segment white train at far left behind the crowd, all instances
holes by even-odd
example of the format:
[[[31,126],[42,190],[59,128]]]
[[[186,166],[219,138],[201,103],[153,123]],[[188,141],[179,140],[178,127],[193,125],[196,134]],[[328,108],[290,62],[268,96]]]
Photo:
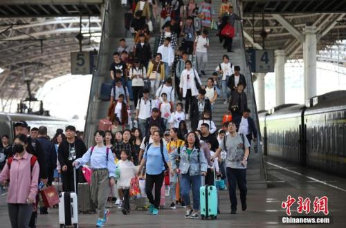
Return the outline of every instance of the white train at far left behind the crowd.
[[[48,117],[42,115],[30,115],[19,113],[0,113],[0,135],[8,135],[12,142],[15,136],[15,122],[24,120],[31,128],[46,126],[48,130],[48,136],[54,137],[57,129],[65,130],[69,124],[73,125],[73,122],[59,119],[56,117]]]

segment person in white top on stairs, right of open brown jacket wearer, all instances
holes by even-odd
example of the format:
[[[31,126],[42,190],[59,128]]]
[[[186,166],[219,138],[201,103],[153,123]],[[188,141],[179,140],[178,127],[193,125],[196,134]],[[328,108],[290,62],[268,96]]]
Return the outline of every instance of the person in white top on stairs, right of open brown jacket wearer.
[[[145,88],[143,90],[143,97],[139,99],[136,106],[136,116],[135,120],[138,120],[138,128],[140,131],[145,133],[145,122],[147,118],[152,115],[152,109],[154,108],[154,102],[149,99],[149,89]]]

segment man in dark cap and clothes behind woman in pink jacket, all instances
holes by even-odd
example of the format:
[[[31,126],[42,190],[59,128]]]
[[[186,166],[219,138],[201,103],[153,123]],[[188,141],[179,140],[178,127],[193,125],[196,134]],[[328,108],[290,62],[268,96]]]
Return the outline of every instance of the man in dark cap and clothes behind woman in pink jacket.
[[[21,120],[19,122],[15,123],[15,135],[29,135],[29,129],[28,129],[28,124],[24,121]],[[47,167],[46,167],[46,162],[44,160],[44,151],[42,149],[41,144],[32,137],[28,137],[28,146],[26,147],[26,151],[32,155],[34,155],[37,158],[37,162],[39,163],[39,180],[44,182],[44,184],[47,184],[48,181],[48,175],[47,175]],[[12,152],[12,151],[11,151]],[[11,153],[8,155],[9,157],[14,155]],[[38,180],[38,181],[39,181]],[[38,204],[38,194],[37,194],[37,200],[35,201],[36,207],[34,207],[34,211],[31,215],[30,222],[29,222],[29,227],[36,227],[36,222],[37,222],[37,204]]]

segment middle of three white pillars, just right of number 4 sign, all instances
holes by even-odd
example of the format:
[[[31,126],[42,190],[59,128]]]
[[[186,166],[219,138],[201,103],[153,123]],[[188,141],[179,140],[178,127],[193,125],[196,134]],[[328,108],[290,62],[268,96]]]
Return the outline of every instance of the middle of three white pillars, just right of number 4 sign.
[[[284,50],[275,50],[275,91],[276,106],[284,104]]]

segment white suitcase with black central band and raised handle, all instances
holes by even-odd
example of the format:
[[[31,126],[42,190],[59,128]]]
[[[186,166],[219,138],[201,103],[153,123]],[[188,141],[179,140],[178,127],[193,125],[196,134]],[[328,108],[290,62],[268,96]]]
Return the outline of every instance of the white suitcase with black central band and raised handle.
[[[73,168],[73,179],[76,189],[76,171]],[[78,198],[75,192],[62,192],[59,194],[59,224],[60,227],[78,227]]]

